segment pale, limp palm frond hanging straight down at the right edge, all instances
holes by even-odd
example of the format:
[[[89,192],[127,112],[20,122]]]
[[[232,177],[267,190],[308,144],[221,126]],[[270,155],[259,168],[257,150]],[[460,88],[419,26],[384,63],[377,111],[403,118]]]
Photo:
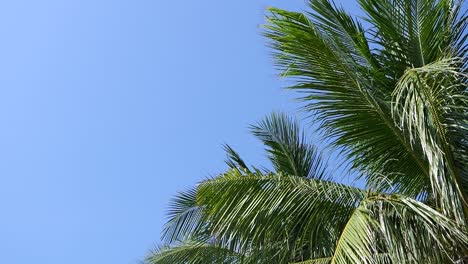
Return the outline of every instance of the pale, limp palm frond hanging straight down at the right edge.
[[[467,178],[468,130],[460,122],[468,117],[466,74],[459,59],[445,59],[405,72],[394,91],[394,116],[407,131],[412,144],[423,147],[429,160],[432,193],[446,215],[459,222],[468,213]],[[461,119],[461,120],[460,120]],[[456,159],[461,159],[457,160]]]

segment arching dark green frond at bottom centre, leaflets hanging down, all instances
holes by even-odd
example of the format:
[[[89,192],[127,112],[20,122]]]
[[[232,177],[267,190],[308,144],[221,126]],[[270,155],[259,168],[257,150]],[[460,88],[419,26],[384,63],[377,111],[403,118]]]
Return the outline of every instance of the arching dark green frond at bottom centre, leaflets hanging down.
[[[233,250],[289,241],[281,249],[281,259],[288,261],[295,251],[330,255],[340,228],[364,195],[324,180],[233,170],[200,184],[197,199],[206,208],[211,231],[226,238]]]

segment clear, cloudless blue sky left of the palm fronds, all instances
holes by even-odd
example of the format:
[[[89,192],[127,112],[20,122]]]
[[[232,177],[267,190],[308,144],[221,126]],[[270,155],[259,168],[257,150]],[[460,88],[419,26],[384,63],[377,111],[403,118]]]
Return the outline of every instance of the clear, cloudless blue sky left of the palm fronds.
[[[137,263],[224,142],[264,161],[247,125],[298,106],[260,36],[268,6],[305,7],[2,1],[0,263]]]

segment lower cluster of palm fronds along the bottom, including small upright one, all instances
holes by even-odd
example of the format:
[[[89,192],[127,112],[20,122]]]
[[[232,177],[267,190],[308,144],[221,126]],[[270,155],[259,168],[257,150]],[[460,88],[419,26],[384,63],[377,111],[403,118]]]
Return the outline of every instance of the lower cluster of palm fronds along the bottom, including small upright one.
[[[253,134],[271,171],[226,146],[230,169],[175,197],[148,263],[450,263],[465,227],[396,192],[332,181],[297,122],[272,114]]]

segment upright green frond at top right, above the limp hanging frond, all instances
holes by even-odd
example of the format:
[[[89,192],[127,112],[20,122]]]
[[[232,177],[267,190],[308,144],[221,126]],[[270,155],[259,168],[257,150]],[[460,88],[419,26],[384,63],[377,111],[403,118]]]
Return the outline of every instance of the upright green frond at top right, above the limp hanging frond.
[[[372,41],[394,78],[458,53],[463,38],[459,12],[463,1],[359,0],[372,25]],[[457,55],[455,55],[457,56]]]

